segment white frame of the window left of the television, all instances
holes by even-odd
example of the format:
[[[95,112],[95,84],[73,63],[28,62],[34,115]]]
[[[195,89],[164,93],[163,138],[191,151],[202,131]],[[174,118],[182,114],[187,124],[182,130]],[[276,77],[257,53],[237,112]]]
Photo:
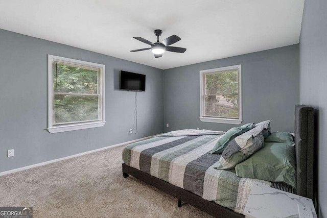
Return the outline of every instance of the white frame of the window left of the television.
[[[100,70],[100,101],[99,101],[99,108],[102,108],[102,111],[99,110],[99,113],[102,113],[102,119],[92,122],[85,122],[79,124],[67,124],[61,126],[53,126],[53,98],[54,98],[54,90],[53,90],[53,67],[52,63],[54,61],[58,61],[61,63],[66,64],[74,64],[74,65],[81,65],[85,67],[92,67],[98,68]],[[55,55],[48,55],[48,131],[50,133],[58,133],[58,132],[66,132],[66,131],[73,131],[73,130],[81,130],[81,129],[88,129],[88,128],[95,128],[95,127],[102,127],[105,125],[105,65],[104,64],[97,64],[91,63],[86,61],[75,60],[71,58],[64,58]]]

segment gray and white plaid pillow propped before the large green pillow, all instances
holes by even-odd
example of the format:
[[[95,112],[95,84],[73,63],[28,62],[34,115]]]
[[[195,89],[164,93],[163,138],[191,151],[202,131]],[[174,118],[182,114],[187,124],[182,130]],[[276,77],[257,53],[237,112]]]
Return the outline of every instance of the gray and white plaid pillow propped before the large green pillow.
[[[228,143],[219,161],[214,164],[216,169],[231,169],[243,162],[264,144],[264,126],[257,126]]]

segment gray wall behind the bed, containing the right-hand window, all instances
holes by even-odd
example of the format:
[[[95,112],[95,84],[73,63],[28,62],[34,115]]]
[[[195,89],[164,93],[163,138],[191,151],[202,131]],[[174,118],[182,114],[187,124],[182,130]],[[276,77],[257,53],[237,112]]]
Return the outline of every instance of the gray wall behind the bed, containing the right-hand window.
[[[196,127],[226,131],[237,126],[199,119],[199,70],[237,64],[242,64],[242,125],[272,119],[272,131],[294,132],[298,44],[165,70],[165,132]]]

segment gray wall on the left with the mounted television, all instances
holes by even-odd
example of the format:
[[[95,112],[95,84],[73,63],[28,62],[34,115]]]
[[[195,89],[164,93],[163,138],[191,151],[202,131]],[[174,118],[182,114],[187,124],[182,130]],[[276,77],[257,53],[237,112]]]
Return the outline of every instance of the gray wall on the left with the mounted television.
[[[106,65],[104,127],[51,134],[47,128],[48,54]],[[146,75],[138,92],[116,90],[119,70]],[[163,132],[163,70],[0,29],[0,172]],[[15,150],[7,158],[6,151]]]

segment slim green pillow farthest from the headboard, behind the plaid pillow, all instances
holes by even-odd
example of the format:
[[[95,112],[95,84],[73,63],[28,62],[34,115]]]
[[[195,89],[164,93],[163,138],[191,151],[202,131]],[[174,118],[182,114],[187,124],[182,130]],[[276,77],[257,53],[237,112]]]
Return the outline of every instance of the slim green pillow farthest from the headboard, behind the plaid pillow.
[[[220,137],[217,141],[213,150],[211,150],[210,154],[221,154],[226,148],[227,144],[233,140],[235,137],[242,135],[243,133],[251,130],[254,126],[254,123],[245,124],[241,127],[233,127],[228,130],[224,135]]]

